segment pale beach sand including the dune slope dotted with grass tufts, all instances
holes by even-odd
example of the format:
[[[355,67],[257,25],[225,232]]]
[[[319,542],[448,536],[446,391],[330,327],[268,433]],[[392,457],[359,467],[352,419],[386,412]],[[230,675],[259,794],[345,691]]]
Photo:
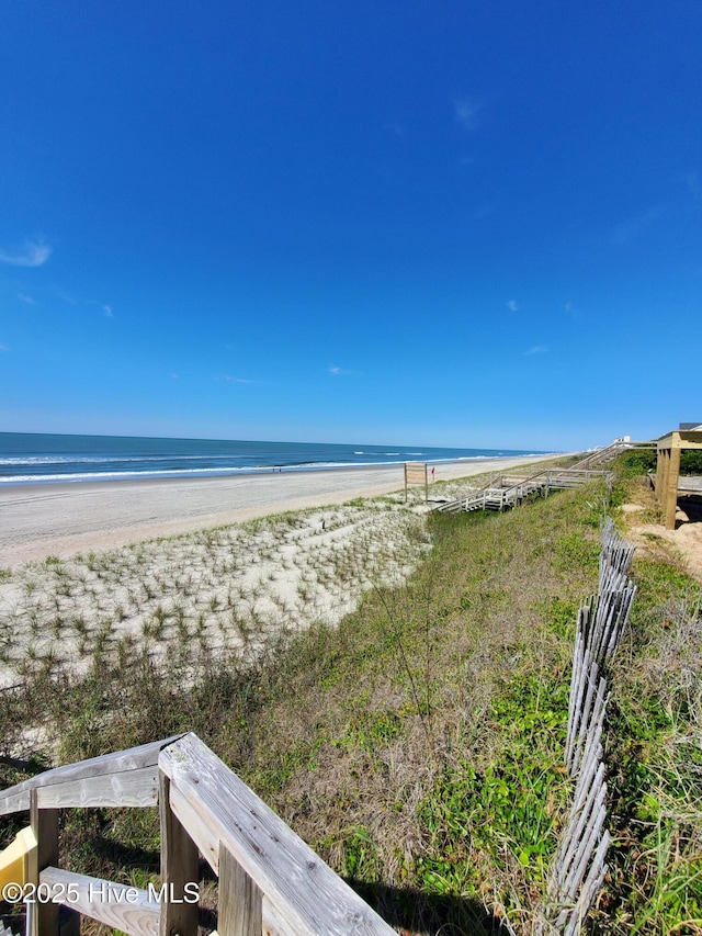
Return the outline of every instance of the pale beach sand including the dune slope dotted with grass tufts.
[[[429,505],[397,465],[0,490],[0,688],[144,652],[186,679],[205,649],[253,659],[403,583],[432,498],[544,458],[437,465]]]

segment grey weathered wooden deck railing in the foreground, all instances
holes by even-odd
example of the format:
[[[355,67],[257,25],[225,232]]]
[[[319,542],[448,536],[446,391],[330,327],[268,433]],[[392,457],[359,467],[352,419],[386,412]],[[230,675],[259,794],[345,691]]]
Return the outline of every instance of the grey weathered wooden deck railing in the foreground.
[[[161,886],[148,890],[59,865],[58,812],[156,807]],[[30,811],[36,880],[80,914],[129,936],[196,936],[199,854],[219,878],[218,936],[389,936],[394,931],[195,734],[57,767],[0,792]],[[59,903],[27,904],[31,936],[58,936]]]

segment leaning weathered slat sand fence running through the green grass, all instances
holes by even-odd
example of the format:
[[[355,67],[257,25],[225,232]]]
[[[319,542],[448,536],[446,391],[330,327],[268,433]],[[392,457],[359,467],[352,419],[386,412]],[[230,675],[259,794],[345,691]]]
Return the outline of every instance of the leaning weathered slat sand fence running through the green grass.
[[[602,529],[598,595],[578,612],[573,659],[565,763],[576,780],[573,804],[551,866],[550,906],[542,932],[574,936],[595,903],[607,875],[610,835],[602,731],[607,711],[607,667],[619,646],[636,593],[626,577],[634,546],[608,518]]]

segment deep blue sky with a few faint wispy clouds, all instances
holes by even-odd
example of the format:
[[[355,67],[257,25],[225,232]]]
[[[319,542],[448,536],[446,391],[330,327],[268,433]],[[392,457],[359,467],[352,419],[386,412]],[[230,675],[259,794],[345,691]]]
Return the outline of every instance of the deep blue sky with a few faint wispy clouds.
[[[699,0],[7,3],[0,430],[702,418]]]

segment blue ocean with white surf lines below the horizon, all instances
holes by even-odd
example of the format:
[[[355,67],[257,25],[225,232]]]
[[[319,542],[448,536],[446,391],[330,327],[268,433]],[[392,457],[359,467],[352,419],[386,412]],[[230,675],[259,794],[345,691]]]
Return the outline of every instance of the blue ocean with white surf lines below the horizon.
[[[541,454],[509,449],[0,432],[0,485],[214,477]]]

